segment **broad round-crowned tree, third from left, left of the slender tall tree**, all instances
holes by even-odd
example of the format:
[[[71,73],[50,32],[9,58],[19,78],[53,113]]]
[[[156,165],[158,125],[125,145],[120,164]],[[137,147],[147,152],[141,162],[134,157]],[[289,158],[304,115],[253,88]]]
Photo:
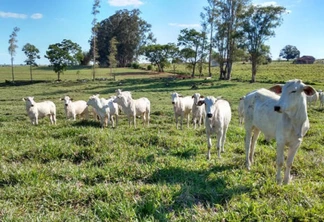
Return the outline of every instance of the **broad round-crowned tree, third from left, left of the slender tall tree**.
[[[77,43],[63,39],[61,43],[48,47],[45,58],[50,61],[54,72],[57,73],[57,80],[60,81],[61,73],[64,73],[68,66],[80,64],[83,54]]]

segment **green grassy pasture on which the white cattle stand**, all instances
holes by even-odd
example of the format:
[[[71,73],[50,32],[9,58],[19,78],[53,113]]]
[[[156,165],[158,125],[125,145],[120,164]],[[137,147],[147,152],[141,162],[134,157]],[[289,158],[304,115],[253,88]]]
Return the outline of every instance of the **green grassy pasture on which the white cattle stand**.
[[[77,74],[77,72],[79,73]],[[261,134],[250,171],[245,168],[244,129],[239,98],[258,88],[300,78],[324,89],[324,65],[272,63],[261,66],[249,83],[250,65],[235,64],[232,81],[172,79],[170,74],[132,69],[91,68],[66,71],[61,82],[50,68],[0,67],[0,220],[1,221],[323,221],[324,110],[308,109],[311,128],[293,163],[289,185],[275,182],[276,143]],[[79,76],[78,76],[79,75]],[[23,82],[22,82],[23,80]],[[196,89],[192,89],[195,85]],[[151,101],[151,123],[129,128],[124,115],[116,128],[99,122],[65,119],[59,99],[87,100],[115,90],[132,91]],[[223,96],[232,108],[225,153],[219,159],[213,139],[206,160],[204,128],[175,127],[170,94],[199,92]],[[57,125],[41,119],[32,126],[23,97],[52,100]]]

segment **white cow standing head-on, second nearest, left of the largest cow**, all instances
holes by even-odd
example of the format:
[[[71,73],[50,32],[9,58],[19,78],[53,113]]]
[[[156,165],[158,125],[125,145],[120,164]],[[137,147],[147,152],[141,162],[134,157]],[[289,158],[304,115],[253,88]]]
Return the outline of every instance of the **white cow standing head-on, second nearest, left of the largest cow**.
[[[226,133],[229,123],[232,118],[231,107],[228,101],[220,97],[207,96],[200,99],[198,105],[205,104],[206,110],[206,136],[208,153],[207,159],[210,159],[210,148],[212,147],[211,136],[216,134],[218,157],[220,158],[221,152],[224,152],[224,145],[226,140]]]

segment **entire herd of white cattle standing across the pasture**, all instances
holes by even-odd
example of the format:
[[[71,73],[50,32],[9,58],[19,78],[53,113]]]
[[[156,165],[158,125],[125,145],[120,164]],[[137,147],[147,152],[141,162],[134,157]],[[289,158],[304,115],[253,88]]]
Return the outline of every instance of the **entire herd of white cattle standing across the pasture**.
[[[52,101],[35,102],[34,97],[23,98],[26,102],[26,111],[31,123],[38,124],[38,119],[49,116],[52,124],[56,124],[56,106]],[[61,98],[64,101],[66,118],[76,120],[78,115],[88,119],[88,107],[93,107],[94,116],[100,120],[102,127],[117,125],[120,109],[128,118],[129,126],[136,128],[136,117],[141,116],[143,125],[149,126],[151,104],[146,97],[133,99],[129,91],[116,90],[116,95],[109,99],[99,95],[89,97],[89,100],[72,101],[69,96]],[[274,85],[270,89],[258,89],[239,99],[239,123],[245,128],[246,166],[250,169],[253,163],[255,145],[260,132],[266,140],[275,139],[277,142],[277,174],[278,184],[288,184],[291,180],[290,170],[296,152],[303,137],[309,129],[307,105],[311,106],[320,101],[324,104],[324,92],[316,91],[313,87],[304,84],[301,80],[289,80],[283,85]],[[192,96],[171,94],[176,127],[180,117],[180,128],[183,129],[183,119],[187,119],[189,127],[190,114],[194,128],[205,124],[208,153],[212,147],[211,136],[216,134],[218,157],[224,152],[226,133],[231,121],[232,113],[228,101],[221,97],[202,96],[194,93]],[[284,148],[287,146],[288,156],[284,178],[281,178],[281,168],[284,165]]]

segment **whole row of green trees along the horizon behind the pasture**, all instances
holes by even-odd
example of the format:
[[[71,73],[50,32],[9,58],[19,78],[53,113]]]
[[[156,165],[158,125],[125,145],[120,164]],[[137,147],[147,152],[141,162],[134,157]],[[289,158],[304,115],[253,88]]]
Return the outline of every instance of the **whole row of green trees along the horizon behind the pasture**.
[[[157,44],[151,25],[140,17],[139,9],[118,10],[97,22],[99,8],[100,0],[94,0],[89,52],[82,52],[77,43],[66,39],[49,45],[45,58],[50,61],[58,79],[70,65],[87,65],[92,61],[94,80],[96,64],[125,67],[144,56],[159,72],[163,72],[167,65],[171,64],[175,70],[177,64],[185,63],[191,68],[192,77],[196,70],[201,75],[206,63],[208,75],[212,76],[212,62],[216,61],[219,79],[225,80],[232,77],[233,62],[249,60],[251,81],[255,82],[258,65],[271,57],[270,47],[265,42],[275,35],[275,28],[281,25],[286,11],[281,6],[253,5],[250,0],[207,0],[207,6],[200,14],[201,30],[182,29],[178,42]],[[18,31],[19,28],[15,27],[9,40],[12,65],[18,47]],[[296,53],[293,46],[286,48],[280,52],[281,57],[291,59],[297,56],[291,53]],[[26,64],[36,65],[35,60],[40,58],[39,50],[28,43],[23,51],[27,56]],[[12,76],[14,80],[13,69]]]

